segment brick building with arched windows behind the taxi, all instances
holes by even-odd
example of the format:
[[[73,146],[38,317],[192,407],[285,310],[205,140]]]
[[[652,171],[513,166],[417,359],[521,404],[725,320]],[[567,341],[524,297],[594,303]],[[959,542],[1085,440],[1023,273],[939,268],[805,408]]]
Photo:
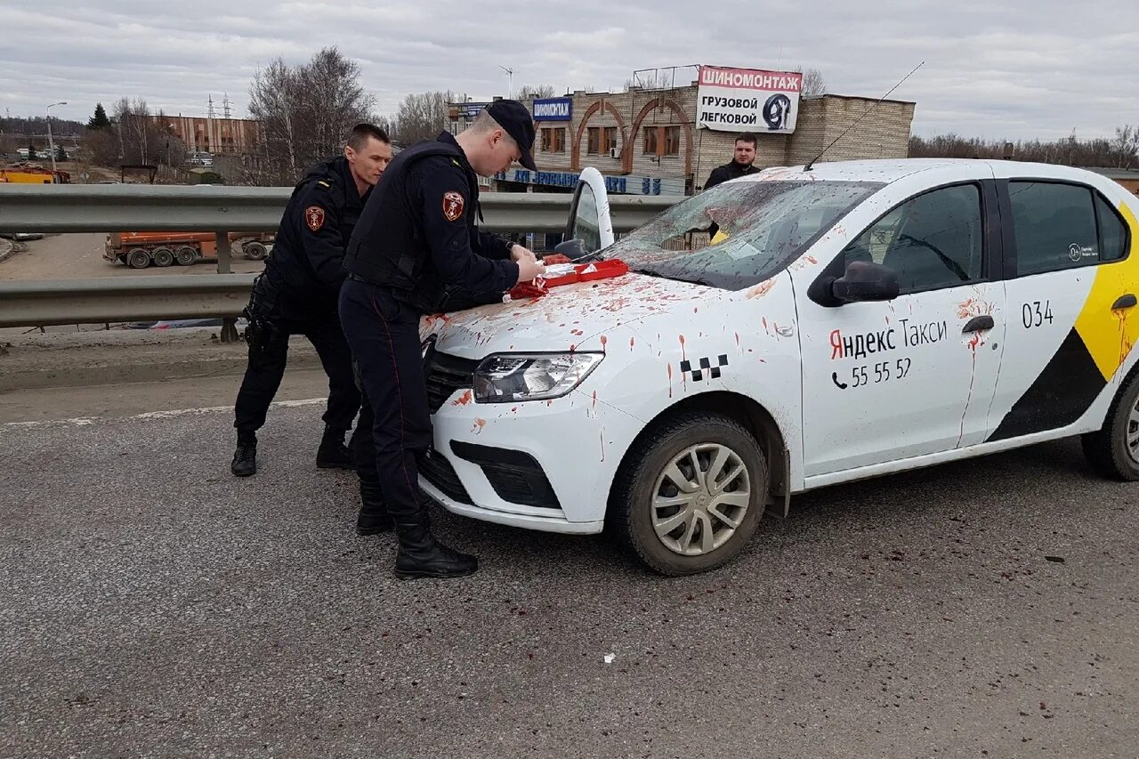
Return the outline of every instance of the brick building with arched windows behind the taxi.
[[[736,132],[697,128],[697,89],[693,82],[670,89],[634,87],[620,93],[576,91],[539,100],[538,171],[511,169],[495,177],[494,189],[571,190],[577,172],[593,166],[606,177],[611,193],[699,191],[708,173],[731,160]],[[755,165],[806,163],[874,103],[841,95],[802,98],[792,133],[765,132],[762,124],[749,128],[759,136]],[[528,106],[534,113],[535,101]],[[906,157],[913,107],[910,101],[883,100],[823,160]]]

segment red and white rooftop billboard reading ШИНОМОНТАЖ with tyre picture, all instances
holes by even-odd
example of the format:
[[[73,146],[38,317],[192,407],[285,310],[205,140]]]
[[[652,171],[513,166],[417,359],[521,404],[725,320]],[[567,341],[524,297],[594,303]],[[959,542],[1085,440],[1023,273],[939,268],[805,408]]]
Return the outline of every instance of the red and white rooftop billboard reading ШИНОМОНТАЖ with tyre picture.
[[[720,132],[790,134],[803,74],[700,66],[696,124]]]

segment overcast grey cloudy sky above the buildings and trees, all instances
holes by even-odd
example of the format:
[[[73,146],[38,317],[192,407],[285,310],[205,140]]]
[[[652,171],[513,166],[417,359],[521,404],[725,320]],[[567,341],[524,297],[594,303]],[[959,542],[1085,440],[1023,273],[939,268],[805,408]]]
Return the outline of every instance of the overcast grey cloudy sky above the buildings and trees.
[[[1134,0],[0,0],[0,108],[13,116],[66,100],[54,115],[87,120],[122,96],[205,115],[211,93],[219,115],[228,93],[245,116],[259,67],[335,44],[384,114],[408,92],[506,95],[499,66],[516,89],[559,93],[616,90],[654,66],[818,68],[828,91],[877,98],[925,60],[891,96],[917,103],[916,134],[1087,139],[1139,126]]]

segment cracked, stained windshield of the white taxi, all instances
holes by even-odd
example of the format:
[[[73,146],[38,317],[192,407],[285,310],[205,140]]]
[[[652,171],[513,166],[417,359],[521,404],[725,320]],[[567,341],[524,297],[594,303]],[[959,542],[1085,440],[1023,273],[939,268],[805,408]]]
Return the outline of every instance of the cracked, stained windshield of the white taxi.
[[[718,185],[672,206],[601,256],[669,279],[751,287],[781,271],[882,187],[822,180]],[[711,244],[710,232],[715,232]]]

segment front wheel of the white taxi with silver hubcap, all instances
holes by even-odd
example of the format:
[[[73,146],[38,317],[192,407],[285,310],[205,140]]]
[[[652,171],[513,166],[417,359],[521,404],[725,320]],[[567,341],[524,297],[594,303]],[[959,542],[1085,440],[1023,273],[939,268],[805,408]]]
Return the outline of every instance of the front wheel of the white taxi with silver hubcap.
[[[708,483],[710,472],[718,482]],[[718,414],[685,413],[659,422],[630,449],[607,521],[654,571],[706,572],[730,562],[751,540],[768,483],[768,462],[746,427]]]

